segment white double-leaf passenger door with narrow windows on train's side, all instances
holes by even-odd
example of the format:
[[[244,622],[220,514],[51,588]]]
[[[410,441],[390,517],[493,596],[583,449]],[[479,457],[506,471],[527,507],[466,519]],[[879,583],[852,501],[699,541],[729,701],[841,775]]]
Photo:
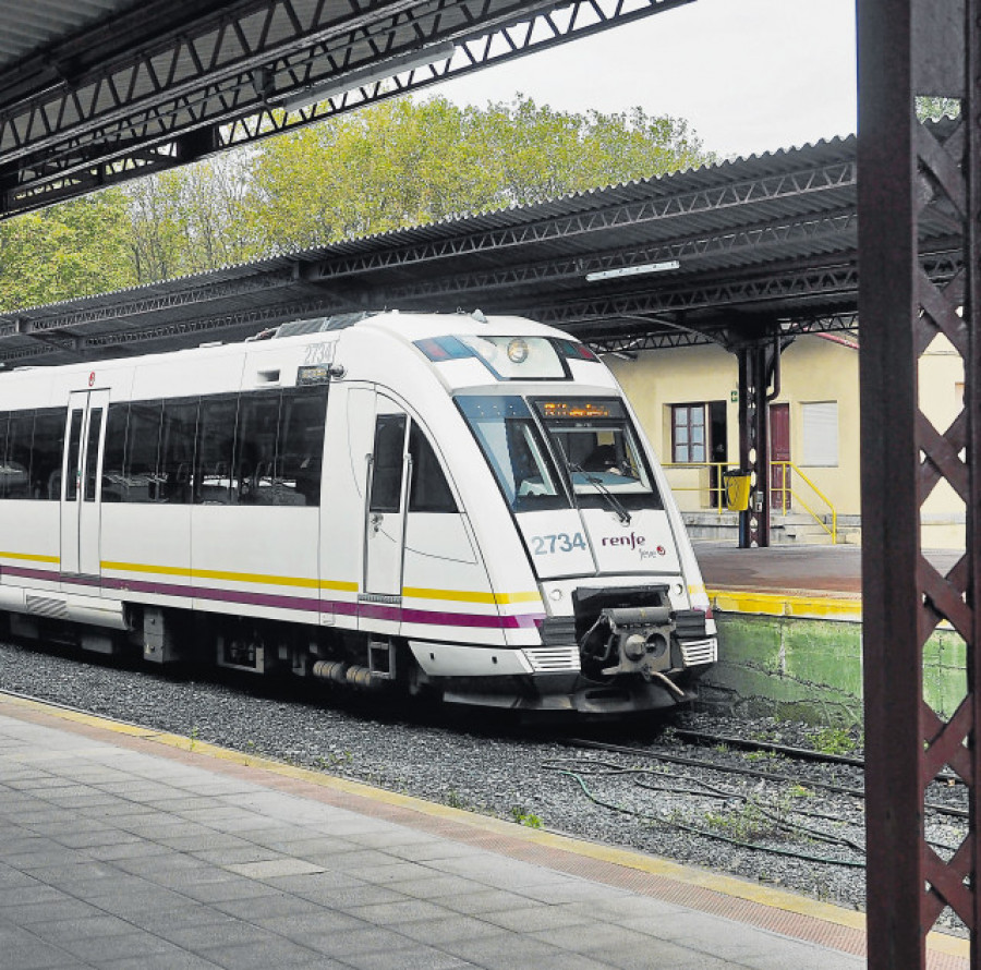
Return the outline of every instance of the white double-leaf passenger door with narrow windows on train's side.
[[[61,571],[100,575],[100,464],[106,437],[108,390],[77,391],[69,398],[61,487]]]

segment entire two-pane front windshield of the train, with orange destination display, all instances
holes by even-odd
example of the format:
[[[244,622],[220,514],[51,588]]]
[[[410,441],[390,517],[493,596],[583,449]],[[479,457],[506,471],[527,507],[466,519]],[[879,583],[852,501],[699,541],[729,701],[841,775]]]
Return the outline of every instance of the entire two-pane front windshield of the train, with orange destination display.
[[[661,509],[637,432],[616,398],[457,399],[514,511]]]

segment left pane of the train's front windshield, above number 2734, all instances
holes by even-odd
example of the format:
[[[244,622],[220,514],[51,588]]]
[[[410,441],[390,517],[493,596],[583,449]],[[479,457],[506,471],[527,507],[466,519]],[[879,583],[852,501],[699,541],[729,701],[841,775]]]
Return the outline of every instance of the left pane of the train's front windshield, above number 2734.
[[[523,398],[461,396],[457,404],[514,511],[571,508]]]

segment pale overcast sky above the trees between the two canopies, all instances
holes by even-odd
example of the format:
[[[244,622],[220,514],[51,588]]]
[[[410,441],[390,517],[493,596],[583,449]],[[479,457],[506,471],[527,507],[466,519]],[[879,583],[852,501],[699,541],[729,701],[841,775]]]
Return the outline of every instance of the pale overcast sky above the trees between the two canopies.
[[[484,107],[683,118],[720,158],[856,130],[855,0],[694,0],[429,88]]]

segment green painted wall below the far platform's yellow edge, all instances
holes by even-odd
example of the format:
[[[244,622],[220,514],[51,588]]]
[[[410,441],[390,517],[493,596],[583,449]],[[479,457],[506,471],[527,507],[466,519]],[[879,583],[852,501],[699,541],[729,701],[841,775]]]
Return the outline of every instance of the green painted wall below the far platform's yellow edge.
[[[860,623],[716,613],[719,662],[702,679],[703,707],[850,727],[862,724]],[[938,630],[923,651],[923,692],[944,718],[967,690],[960,636]]]

